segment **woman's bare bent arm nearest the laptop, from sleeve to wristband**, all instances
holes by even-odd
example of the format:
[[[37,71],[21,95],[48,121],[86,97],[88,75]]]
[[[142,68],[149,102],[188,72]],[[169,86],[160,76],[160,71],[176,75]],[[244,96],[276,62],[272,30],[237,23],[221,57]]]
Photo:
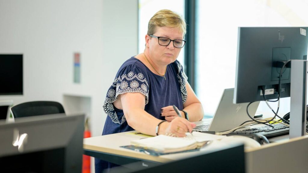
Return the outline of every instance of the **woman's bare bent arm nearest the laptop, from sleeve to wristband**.
[[[186,82],[186,90],[187,90],[187,100],[183,104],[184,111],[188,113],[189,121],[196,122],[203,119],[204,112],[201,102],[197,98],[195,92],[192,87]],[[182,112],[182,111],[181,111]]]

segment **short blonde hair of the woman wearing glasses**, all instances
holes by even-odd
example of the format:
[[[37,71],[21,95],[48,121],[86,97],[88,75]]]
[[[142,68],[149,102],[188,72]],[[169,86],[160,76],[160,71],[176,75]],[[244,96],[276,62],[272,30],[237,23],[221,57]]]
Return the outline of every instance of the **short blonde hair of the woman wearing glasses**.
[[[156,26],[178,28],[183,32],[183,36],[186,34],[186,22],[184,18],[171,10],[159,10],[154,14],[148,23],[147,34],[153,35],[156,32]]]

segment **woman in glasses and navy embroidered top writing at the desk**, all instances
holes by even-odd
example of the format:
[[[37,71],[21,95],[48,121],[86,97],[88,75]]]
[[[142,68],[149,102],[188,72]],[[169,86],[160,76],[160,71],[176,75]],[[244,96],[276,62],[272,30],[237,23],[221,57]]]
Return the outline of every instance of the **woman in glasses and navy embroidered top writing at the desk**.
[[[172,133],[184,137],[196,126],[190,122],[203,118],[202,105],[176,60],[186,42],[185,33],[186,23],[179,14],[170,10],[154,14],[144,52],[124,62],[107,92],[103,135],[137,130],[153,136]],[[95,171],[105,166],[95,160]]]

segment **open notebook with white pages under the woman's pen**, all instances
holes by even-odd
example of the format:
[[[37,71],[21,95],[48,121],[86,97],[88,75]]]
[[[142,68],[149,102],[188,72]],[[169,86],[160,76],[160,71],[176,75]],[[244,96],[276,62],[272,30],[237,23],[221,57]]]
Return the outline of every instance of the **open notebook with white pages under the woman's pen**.
[[[187,133],[187,136],[184,138],[158,135],[150,138],[132,140],[131,145],[148,151],[166,154],[198,149],[208,144],[209,141],[219,140],[225,137],[193,131],[193,136],[190,133]]]

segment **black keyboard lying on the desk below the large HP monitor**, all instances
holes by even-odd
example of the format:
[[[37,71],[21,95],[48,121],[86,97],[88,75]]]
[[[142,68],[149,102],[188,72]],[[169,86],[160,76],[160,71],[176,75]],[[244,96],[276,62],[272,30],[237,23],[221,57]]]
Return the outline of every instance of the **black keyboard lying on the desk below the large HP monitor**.
[[[272,124],[273,127],[264,126],[264,127],[256,127],[252,129],[246,129],[242,131],[234,131],[231,134],[244,134],[244,135],[264,135],[266,138],[273,138],[276,136],[281,135],[288,135],[289,134],[289,127],[283,124]]]

